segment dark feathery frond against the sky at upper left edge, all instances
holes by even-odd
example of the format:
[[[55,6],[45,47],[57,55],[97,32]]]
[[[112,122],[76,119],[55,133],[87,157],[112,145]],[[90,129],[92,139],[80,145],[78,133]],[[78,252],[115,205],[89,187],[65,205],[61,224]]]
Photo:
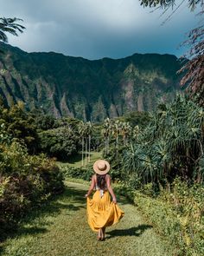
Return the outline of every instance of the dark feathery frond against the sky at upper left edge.
[[[0,18],[0,41],[3,41],[4,43],[8,43],[8,37],[6,33],[10,33],[11,35],[18,36],[17,32],[23,32],[25,27],[22,25],[16,23],[18,21],[22,21],[22,19],[19,18]]]

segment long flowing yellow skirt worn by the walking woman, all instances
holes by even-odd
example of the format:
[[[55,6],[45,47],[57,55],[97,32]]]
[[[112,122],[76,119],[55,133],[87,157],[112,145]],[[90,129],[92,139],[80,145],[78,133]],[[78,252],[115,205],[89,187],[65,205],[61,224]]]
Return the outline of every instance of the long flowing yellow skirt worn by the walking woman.
[[[107,190],[102,197],[99,190],[93,194],[92,199],[87,197],[87,218],[92,231],[98,232],[101,227],[112,226],[123,216],[124,212],[111,201]]]

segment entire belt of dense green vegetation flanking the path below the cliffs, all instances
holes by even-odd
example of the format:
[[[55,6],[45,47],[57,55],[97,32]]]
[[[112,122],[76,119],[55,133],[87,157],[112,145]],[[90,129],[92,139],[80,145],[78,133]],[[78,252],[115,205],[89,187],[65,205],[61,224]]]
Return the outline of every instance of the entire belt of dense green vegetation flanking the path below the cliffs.
[[[63,179],[90,180],[90,154],[112,164],[115,189],[134,202],[178,255],[203,253],[204,111],[187,96],[103,123],[0,109],[1,233],[63,191]],[[80,155],[81,167],[57,165]],[[10,228],[8,228],[10,227]]]

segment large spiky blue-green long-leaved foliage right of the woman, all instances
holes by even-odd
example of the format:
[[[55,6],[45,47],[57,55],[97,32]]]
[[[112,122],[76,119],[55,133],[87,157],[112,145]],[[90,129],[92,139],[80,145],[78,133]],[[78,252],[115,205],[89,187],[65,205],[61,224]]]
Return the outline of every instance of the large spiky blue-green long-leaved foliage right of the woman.
[[[147,128],[124,151],[124,175],[146,182],[203,182],[204,110],[177,95],[174,102],[161,103]]]

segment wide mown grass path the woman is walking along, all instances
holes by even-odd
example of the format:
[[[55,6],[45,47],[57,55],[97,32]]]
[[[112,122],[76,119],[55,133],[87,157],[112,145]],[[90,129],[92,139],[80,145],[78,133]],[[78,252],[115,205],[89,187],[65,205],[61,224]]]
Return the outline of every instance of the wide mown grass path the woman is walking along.
[[[0,244],[5,256],[65,256],[65,255],[171,255],[163,240],[146,223],[137,208],[124,198],[119,206],[124,218],[107,228],[106,240],[97,241],[86,222],[87,186],[68,182],[63,195],[46,207],[35,211],[13,237]]]

